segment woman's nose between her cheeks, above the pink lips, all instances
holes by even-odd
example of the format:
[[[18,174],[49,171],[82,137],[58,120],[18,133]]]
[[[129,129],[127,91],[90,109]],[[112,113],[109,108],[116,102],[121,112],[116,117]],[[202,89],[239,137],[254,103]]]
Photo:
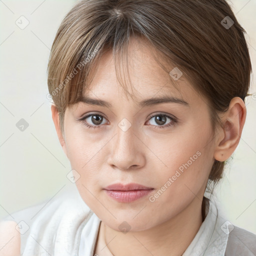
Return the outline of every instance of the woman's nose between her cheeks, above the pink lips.
[[[120,170],[137,169],[145,164],[143,143],[133,132],[132,126],[123,131],[117,126],[110,141],[110,153],[107,163]]]

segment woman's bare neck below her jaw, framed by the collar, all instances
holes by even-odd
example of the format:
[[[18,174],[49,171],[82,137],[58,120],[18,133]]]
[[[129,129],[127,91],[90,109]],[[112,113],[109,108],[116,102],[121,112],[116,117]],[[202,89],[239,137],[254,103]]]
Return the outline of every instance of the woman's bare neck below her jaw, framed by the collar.
[[[201,198],[202,199],[202,198]],[[202,223],[201,201],[192,202],[175,217],[143,231],[122,233],[104,224],[105,242],[113,255],[180,256]],[[114,242],[110,242],[114,237]]]

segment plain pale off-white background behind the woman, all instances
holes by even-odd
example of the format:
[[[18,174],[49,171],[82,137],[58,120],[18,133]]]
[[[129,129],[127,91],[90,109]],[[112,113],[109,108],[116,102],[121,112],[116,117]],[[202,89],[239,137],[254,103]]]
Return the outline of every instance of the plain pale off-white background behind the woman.
[[[46,66],[57,28],[75,2],[0,0],[0,217],[74,187],[51,120]],[[255,73],[256,0],[228,2],[247,32]],[[24,29],[15,24],[21,15],[29,21]],[[250,93],[255,92],[252,74]],[[256,233],[256,94],[245,104],[241,140],[216,196],[231,223]],[[21,118],[29,124],[24,131],[16,127]]]

